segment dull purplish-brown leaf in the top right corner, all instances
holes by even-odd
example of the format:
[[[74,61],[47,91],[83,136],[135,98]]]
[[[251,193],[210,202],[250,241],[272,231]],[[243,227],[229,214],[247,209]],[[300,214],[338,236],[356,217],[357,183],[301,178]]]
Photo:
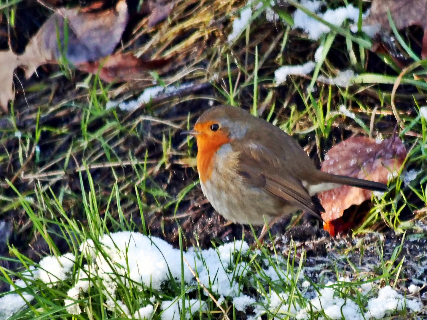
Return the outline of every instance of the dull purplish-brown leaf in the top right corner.
[[[421,57],[427,58],[427,0],[372,0],[369,16],[364,20],[366,25],[380,24],[387,32],[391,30],[387,10],[393,18],[397,29],[408,26],[421,26],[424,38]]]

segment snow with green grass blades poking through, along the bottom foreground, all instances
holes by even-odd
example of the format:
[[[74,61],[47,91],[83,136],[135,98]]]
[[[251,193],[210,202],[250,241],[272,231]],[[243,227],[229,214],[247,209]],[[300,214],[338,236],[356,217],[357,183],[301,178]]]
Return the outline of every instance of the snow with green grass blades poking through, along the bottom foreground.
[[[181,253],[159,238],[118,232],[88,239],[80,251],[83,261],[87,261],[80,269],[70,263],[74,256],[68,253],[58,259],[44,258],[40,263],[43,270],[26,275],[30,282],[47,281],[48,288],[55,285],[58,285],[55,290],[68,288],[66,299],[54,301],[69,314],[79,314],[79,319],[91,317],[85,313],[99,303],[116,318],[207,319],[205,312],[219,308],[196,281],[181,255],[217,303],[227,307],[232,302],[235,310],[247,314],[248,320],[263,315],[311,319],[323,314],[330,319],[381,319],[395,311],[421,309],[417,300],[407,299],[391,287],[378,288],[368,279],[362,285],[340,278],[323,288],[320,283],[313,287],[304,275],[308,269],[294,268],[281,256],[250,251],[244,241]],[[74,272],[70,273],[72,268]],[[60,286],[63,281],[71,285]],[[11,288],[10,293],[0,298],[0,320],[25,308],[45,287],[29,291],[32,294],[21,291],[24,299]],[[13,288],[23,290],[26,282],[18,280]],[[126,299],[129,295],[131,300]]]

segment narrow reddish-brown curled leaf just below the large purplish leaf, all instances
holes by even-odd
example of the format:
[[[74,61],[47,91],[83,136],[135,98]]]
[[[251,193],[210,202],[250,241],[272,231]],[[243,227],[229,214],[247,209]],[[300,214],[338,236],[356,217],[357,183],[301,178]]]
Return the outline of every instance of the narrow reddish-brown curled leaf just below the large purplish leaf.
[[[172,59],[159,59],[144,61],[136,58],[132,52],[116,53],[102,61],[88,62],[85,64],[76,64],[76,68],[88,73],[97,74],[99,79],[106,82],[130,81],[138,79],[141,73],[147,70],[155,70],[166,66]],[[99,69],[99,67],[102,67]]]

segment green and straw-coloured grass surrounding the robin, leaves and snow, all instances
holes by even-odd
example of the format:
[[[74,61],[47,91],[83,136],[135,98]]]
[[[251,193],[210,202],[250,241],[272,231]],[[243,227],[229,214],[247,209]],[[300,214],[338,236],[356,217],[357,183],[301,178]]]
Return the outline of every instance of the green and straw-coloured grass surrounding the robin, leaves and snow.
[[[346,2],[330,1],[328,6],[342,6]],[[16,3],[0,3],[1,14],[12,29],[17,23]],[[298,3],[290,3],[299,7]],[[199,252],[200,247],[222,244],[224,239],[213,239],[209,226],[202,223],[214,216],[203,202],[194,168],[188,165],[194,163],[195,143],[178,135],[179,128],[191,128],[210,101],[215,105],[237,105],[267,119],[307,147],[318,164],[325,151],[352,134],[386,138],[398,124],[398,136],[409,151],[404,168],[390,182],[389,192],[380,198],[373,197],[366,218],[353,231],[363,237],[390,228],[402,237],[424,237],[415,223],[425,216],[427,178],[420,173],[407,186],[402,178],[408,170],[426,170],[426,119],[420,116],[419,108],[426,103],[427,86],[425,81],[413,77],[425,74],[425,62],[415,62],[402,73],[389,56],[370,52],[371,40],[363,33],[351,33],[348,23],[331,26],[332,32],[313,42],[281,21],[266,22],[261,9],[253,10],[252,23],[229,44],[226,38],[231,33],[232,12],[245,6],[237,1],[181,1],[164,23],[152,29],[137,26],[135,35],[155,40],[137,46],[135,52],[154,58],[176,55],[167,71],[147,74],[143,78],[148,80],[107,85],[96,76],[57,69],[43,79],[23,84],[26,96],[17,96],[9,108],[10,114],[1,119],[6,125],[0,128],[0,171],[5,174],[5,179],[0,180],[0,217],[11,220],[14,234],[22,239],[12,241],[9,257],[2,258],[21,267],[0,268],[1,280],[12,286],[16,278],[28,283],[26,288],[14,287],[18,294],[27,294],[23,297],[28,303],[11,319],[123,318],[123,304],[131,315],[152,305],[153,318],[158,319],[164,301],[177,300],[181,308],[188,309],[185,301],[191,299],[205,303],[202,312],[191,313],[192,319],[245,317],[233,307],[232,297],[215,303],[208,299],[199,282],[185,282],[182,276],[165,281],[159,290],[132,281],[126,264],[120,266],[110,261],[99,241],[104,234],[132,230],[167,239],[180,248],[182,256],[188,248]],[[274,9],[292,24],[292,6]],[[218,25],[212,21],[225,22]],[[401,32],[397,39],[417,60],[416,53],[407,45],[411,43],[407,34]],[[325,49],[313,76],[291,76],[286,84],[275,85],[275,70],[282,65],[313,60],[320,44]],[[371,61],[374,63],[370,64]],[[357,76],[347,89],[316,81],[320,75],[333,77],[337,69],[348,68]],[[65,76],[73,77],[73,81]],[[153,86],[152,80],[162,85],[194,82],[211,86],[202,92],[190,90],[153,100],[131,113],[105,109],[108,100],[136,99],[144,89]],[[399,84],[396,92],[394,84]],[[340,105],[353,112],[354,117],[341,112]],[[290,226],[298,223],[298,218],[295,215]],[[253,236],[250,231],[245,235]],[[115,299],[110,299],[111,292],[107,292],[102,275],[84,268],[96,263],[79,251],[88,239],[94,241],[99,256],[111,265],[112,275],[121,274],[114,281]],[[30,258],[33,251],[29,244],[40,242],[46,245]],[[269,320],[292,318],[297,305],[310,307],[313,297],[308,292],[325,287],[333,288],[336,298],[351,300],[365,312],[369,299],[376,297],[381,286],[404,288],[403,266],[410,257],[403,257],[402,246],[386,255],[386,248],[379,244],[375,249],[379,267],[368,274],[363,269],[363,252],[369,245],[347,247],[342,249],[342,259],[335,265],[326,264],[323,272],[313,278],[307,275],[305,267],[311,258],[305,258],[297,242],[289,244],[290,250],[284,257],[274,246],[264,245],[259,251],[239,249],[233,254],[231,267],[226,271],[238,283],[240,292],[257,301],[248,312],[255,308],[264,312],[263,319]],[[39,268],[40,258],[59,257],[64,250],[76,256],[76,264],[63,280],[46,285],[29,276],[30,267]],[[360,254],[359,264],[348,258],[356,253]],[[245,275],[237,271],[242,262],[246,264]],[[273,281],[266,274],[269,267],[269,274],[277,274],[278,280]],[[187,268],[181,262],[181,273],[187,272]],[[351,269],[351,281],[339,280],[348,276],[347,269]],[[332,275],[336,283],[327,285]],[[210,277],[214,279],[215,274]],[[64,301],[69,299],[67,291],[79,279],[88,279],[93,285],[74,301],[82,313],[71,315]],[[371,292],[361,294],[361,285],[371,282]],[[209,285],[205,287],[211,291]],[[287,299],[282,295],[283,301],[272,304],[271,298],[276,297],[273,292],[277,297],[285,294]],[[220,299],[214,292],[211,294],[215,300]],[[277,298],[276,302],[280,300]],[[405,311],[392,314],[405,319],[415,317]],[[310,319],[319,317],[328,319],[324,310],[310,314]]]

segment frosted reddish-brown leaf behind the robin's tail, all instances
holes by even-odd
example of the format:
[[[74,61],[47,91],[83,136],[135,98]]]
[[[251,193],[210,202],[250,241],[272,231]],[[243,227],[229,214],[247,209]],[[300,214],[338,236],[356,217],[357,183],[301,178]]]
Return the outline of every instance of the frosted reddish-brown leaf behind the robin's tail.
[[[406,148],[397,136],[380,143],[368,137],[353,137],[328,151],[321,170],[387,184],[389,175],[395,175],[401,169],[406,155]],[[372,191],[351,186],[319,193],[320,203],[325,208],[322,212],[326,222],[324,229],[331,228],[331,221],[340,218],[345,209],[359,205],[371,196]]]

